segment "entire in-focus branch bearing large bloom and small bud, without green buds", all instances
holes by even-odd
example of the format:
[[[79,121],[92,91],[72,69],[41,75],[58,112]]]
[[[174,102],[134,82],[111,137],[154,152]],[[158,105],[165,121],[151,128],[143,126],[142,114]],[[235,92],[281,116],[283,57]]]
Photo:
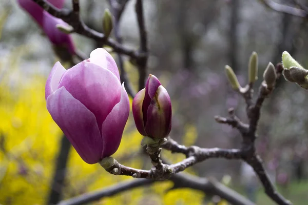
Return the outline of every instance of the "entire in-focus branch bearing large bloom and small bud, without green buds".
[[[281,72],[281,64],[278,64],[276,66],[276,79],[280,77]],[[167,141],[161,145],[160,140],[153,139],[154,142],[149,142],[147,145],[147,151],[150,150],[150,152],[148,151],[147,153],[152,159],[152,163],[155,166],[154,168],[150,170],[139,170],[126,167],[112,157],[103,159],[101,165],[105,168],[106,171],[114,175],[128,175],[134,178],[163,180],[168,179],[174,174],[184,171],[188,167],[191,167],[196,163],[202,162],[208,158],[221,157],[226,159],[242,159],[252,166],[262,185],[264,186],[265,193],[269,197],[271,197],[278,204],[292,204],[277,192],[273,183],[265,172],[261,158],[257,155],[255,150],[256,130],[260,118],[260,110],[265,98],[272,93],[273,89],[273,86],[268,86],[265,81],[263,81],[259,88],[258,97],[255,103],[253,101],[252,83],[247,85],[244,89],[238,90],[238,92],[246,101],[246,111],[249,124],[244,124],[235,115],[234,109],[229,109],[229,117],[215,117],[217,122],[228,124],[239,130],[243,137],[241,149],[200,148],[197,146],[185,147],[179,145],[178,142],[172,140],[171,138],[168,138]],[[158,146],[155,145],[155,142],[157,142]],[[153,145],[155,145],[154,148]],[[174,153],[182,153],[186,156],[186,159],[175,163],[174,165],[163,164],[159,156],[161,151],[159,148],[160,146]]]

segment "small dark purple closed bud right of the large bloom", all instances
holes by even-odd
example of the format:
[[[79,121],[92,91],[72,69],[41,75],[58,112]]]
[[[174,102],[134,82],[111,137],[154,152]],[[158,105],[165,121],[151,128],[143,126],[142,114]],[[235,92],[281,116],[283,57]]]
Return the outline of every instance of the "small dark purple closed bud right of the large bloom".
[[[167,90],[154,75],[132,101],[132,114],[140,134],[164,138],[171,130],[171,100]]]

